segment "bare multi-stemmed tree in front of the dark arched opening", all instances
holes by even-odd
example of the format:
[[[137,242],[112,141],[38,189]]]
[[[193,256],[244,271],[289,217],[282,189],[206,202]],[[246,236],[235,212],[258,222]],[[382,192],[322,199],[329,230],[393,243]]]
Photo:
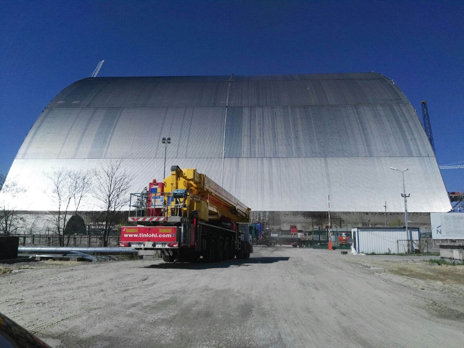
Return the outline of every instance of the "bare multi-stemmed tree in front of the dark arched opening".
[[[71,234],[65,238],[64,228],[71,218],[72,212],[77,214],[83,199],[90,191],[90,184],[93,172],[77,170],[72,171],[64,167],[52,168],[50,172],[44,173],[51,183],[51,197],[57,208],[57,213],[53,215],[52,224],[55,233],[58,235],[60,246],[69,245]],[[69,231],[72,229],[69,228]]]

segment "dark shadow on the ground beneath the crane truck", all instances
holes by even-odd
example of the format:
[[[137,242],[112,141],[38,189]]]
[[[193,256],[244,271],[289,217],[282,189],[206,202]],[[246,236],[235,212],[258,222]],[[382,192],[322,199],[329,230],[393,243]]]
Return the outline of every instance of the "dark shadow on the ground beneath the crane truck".
[[[186,270],[204,270],[207,268],[228,268],[228,267],[248,267],[253,264],[273,264],[279,261],[288,261],[289,257],[282,256],[267,256],[261,258],[249,258],[247,260],[228,260],[221,262],[213,262],[211,264],[204,263],[202,259],[197,262],[163,262],[161,264],[150,264],[140,268],[158,268],[158,269],[186,269]]]

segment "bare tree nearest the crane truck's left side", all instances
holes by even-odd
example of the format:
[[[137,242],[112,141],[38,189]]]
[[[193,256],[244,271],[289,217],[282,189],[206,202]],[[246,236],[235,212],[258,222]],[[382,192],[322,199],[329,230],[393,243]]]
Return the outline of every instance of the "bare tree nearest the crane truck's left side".
[[[109,161],[96,174],[94,189],[98,206],[102,209],[103,246],[110,240],[120,219],[120,210],[129,203],[129,187],[133,178],[121,166],[121,160]]]

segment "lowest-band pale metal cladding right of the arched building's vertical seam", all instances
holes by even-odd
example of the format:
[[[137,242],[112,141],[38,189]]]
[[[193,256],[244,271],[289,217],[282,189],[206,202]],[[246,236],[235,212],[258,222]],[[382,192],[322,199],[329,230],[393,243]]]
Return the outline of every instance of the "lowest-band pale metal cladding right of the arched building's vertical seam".
[[[408,210],[450,210],[434,157],[226,158],[223,187],[259,211],[404,211],[401,174]]]

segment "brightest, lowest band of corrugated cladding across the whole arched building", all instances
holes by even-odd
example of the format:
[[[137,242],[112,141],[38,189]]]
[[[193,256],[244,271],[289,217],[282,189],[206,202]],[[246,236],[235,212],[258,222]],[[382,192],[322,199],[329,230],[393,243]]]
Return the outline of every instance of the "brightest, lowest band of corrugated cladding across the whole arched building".
[[[152,179],[161,179],[163,158],[127,158],[124,168],[134,175],[134,191]],[[433,159],[434,161],[434,159]],[[52,209],[44,190],[43,172],[50,168],[98,168],[101,159],[16,159],[8,176],[27,188],[28,210]],[[221,183],[222,159],[169,158],[180,168],[197,168]],[[225,159],[223,187],[255,211],[327,211],[327,197],[334,212],[388,212],[404,210],[401,175],[390,166],[409,168],[406,191],[411,212],[441,212],[449,200],[445,187],[437,187],[438,169],[424,158],[262,158]],[[424,187],[427,187],[425,190]],[[24,202],[19,200],[19,206]],[[86,210],[91,210],[86,208]],[[449,209],[448,209],[449,210]]]

